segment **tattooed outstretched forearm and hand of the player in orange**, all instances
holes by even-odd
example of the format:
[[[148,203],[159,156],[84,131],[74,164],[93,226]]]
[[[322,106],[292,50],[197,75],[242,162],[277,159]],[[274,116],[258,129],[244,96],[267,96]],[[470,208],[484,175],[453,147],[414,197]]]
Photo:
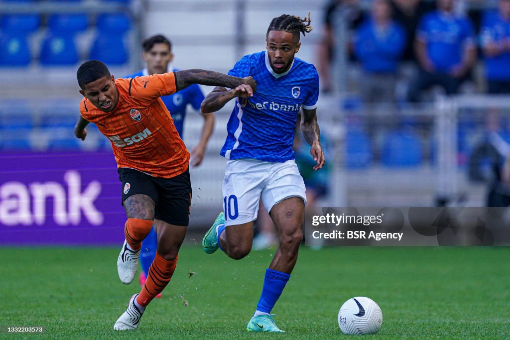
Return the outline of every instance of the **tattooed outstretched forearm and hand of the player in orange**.
[[[257,83],[252,77],[239,78],[198,68],[175,72],[175,85],[177,87],[177,91],[187,88],[191,84],[223,86],[228,88],[236,88],[239,85],[246,84],[249,85],[253,91],[256,91],[257,89]]]

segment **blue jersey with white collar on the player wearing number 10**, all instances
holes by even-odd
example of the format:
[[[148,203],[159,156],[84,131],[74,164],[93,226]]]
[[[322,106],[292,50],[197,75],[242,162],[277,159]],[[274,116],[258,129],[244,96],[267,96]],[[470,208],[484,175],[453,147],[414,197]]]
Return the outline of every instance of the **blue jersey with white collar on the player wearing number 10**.
[[[257,92],[244,107],[242,98],[236,98],[220,154],[230,160],[293,160],[297,115],[301,107],[312,110],[317,106],[319,76],[314,65],[294,58],[287,72],[275,73],[262,51],[244,56],[228,74],[252,76]]]

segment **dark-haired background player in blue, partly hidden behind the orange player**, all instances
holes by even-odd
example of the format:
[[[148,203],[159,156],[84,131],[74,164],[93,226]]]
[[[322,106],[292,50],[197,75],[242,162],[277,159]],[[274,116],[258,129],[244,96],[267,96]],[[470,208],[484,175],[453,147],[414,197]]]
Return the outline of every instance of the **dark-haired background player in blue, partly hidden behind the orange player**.
[[[147,64],[147,67],[143,70],[128,75],[126,78],[151,75],[151,74],[162,74],[165,72],[173,72],[172,66],[173,53],[172,44],[170,40],[162,35],[155,35],[147,38],[142,43],[143,53],[142,59]],[[203,100],[203,93],[197,84],[192,84],[187,88],[171,94],[169,96],[163,96],[161,99],[165,104],[166,108],[170,112],[170,116],[173,119],[177,133],[184,139],[184,118],[186,117],[186,111],[188,104],[193,109],[199,111],[200,104]],[[207,143],[213,133],[214,128],[214,114],[202,114],[203,126],[200,134],[200,140],[198,144],[191,150],[191,166],[196,167],[202,163],[203,156],[206,154]],[[140,265],[142,267],[142,273],[140,273],[140,285],[143,287],[145,279],[148,275],[149,267],[156,256],[156,248],[158,245],[158,237],[154,227],[151,229],[145,240],[143,241],[142,252],[140,254]],[[158,294],[156,297],[161,297]]]

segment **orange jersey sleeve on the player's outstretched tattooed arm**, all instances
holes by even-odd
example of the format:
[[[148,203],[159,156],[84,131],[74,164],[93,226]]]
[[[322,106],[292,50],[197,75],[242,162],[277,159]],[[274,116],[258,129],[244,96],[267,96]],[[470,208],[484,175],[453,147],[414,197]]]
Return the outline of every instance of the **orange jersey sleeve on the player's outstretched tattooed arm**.
[[[175,74],[168,72],[132,78],[127,92],[139,101],[150,103],[176,92]]]

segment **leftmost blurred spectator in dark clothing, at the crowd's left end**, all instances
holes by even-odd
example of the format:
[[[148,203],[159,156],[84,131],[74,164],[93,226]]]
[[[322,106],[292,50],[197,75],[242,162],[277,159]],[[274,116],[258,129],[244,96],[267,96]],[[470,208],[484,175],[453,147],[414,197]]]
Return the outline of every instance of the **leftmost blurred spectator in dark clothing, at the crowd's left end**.
[[[352,33],[363,21],[364,14],[359,7],[359,0],[331,0],[324,13],[324,37],[318,50],[317,70],[321,80],[321,90],[329,92],[332,89],[331,63],[335,58],[335,33],[340,29],[338,20],[345,18],[346,34]],[[352,46],[346,40],[348,54],[352,53]]]

